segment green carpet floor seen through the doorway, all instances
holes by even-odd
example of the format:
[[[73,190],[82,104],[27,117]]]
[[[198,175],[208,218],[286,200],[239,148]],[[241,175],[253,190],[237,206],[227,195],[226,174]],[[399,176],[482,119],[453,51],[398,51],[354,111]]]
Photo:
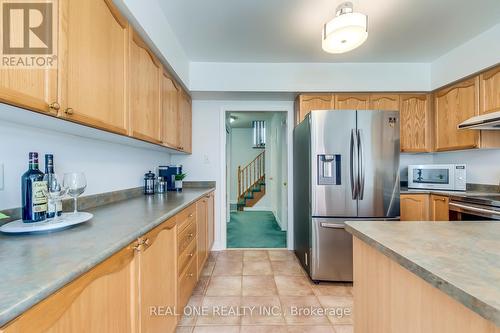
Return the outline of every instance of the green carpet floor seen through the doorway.
[[[286,231],[281,231],[272,212],[231,212],[227,247],[286,248]]]

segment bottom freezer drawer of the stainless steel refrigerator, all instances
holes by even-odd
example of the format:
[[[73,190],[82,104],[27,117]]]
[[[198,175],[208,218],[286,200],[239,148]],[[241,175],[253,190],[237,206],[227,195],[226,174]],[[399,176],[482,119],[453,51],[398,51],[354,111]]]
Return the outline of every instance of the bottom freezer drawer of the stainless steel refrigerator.
[[[352,281],[352,236],[345,231],[344,220],[312,219],[312,280]]]

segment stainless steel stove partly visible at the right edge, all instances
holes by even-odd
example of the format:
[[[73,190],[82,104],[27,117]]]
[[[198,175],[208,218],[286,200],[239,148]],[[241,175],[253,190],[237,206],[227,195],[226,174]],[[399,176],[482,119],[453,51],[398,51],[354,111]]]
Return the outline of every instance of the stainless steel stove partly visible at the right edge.
[[[450,196],[449,209],[453,220],[500,220],[500,194]]]

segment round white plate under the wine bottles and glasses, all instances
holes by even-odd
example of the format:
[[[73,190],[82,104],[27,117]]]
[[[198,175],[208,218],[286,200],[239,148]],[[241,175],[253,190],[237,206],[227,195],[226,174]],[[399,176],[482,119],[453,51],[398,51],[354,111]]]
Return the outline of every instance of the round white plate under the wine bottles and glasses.
[[[59,218],[47,219],[41,222],[24,223],[23,220],[16,220],[6,223],[0,227],[0,232],[6,234],[24,234],[47,232],[69,228],[71,226],[87,222],[94,215],[86,212],[63,213]]]

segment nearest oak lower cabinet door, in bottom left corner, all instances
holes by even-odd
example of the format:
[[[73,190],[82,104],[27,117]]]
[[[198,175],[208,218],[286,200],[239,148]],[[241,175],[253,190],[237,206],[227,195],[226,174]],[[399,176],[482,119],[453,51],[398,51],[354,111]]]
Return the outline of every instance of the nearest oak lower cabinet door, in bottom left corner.
[[[41,301],[2,332],[136,332],[132,246]]]

